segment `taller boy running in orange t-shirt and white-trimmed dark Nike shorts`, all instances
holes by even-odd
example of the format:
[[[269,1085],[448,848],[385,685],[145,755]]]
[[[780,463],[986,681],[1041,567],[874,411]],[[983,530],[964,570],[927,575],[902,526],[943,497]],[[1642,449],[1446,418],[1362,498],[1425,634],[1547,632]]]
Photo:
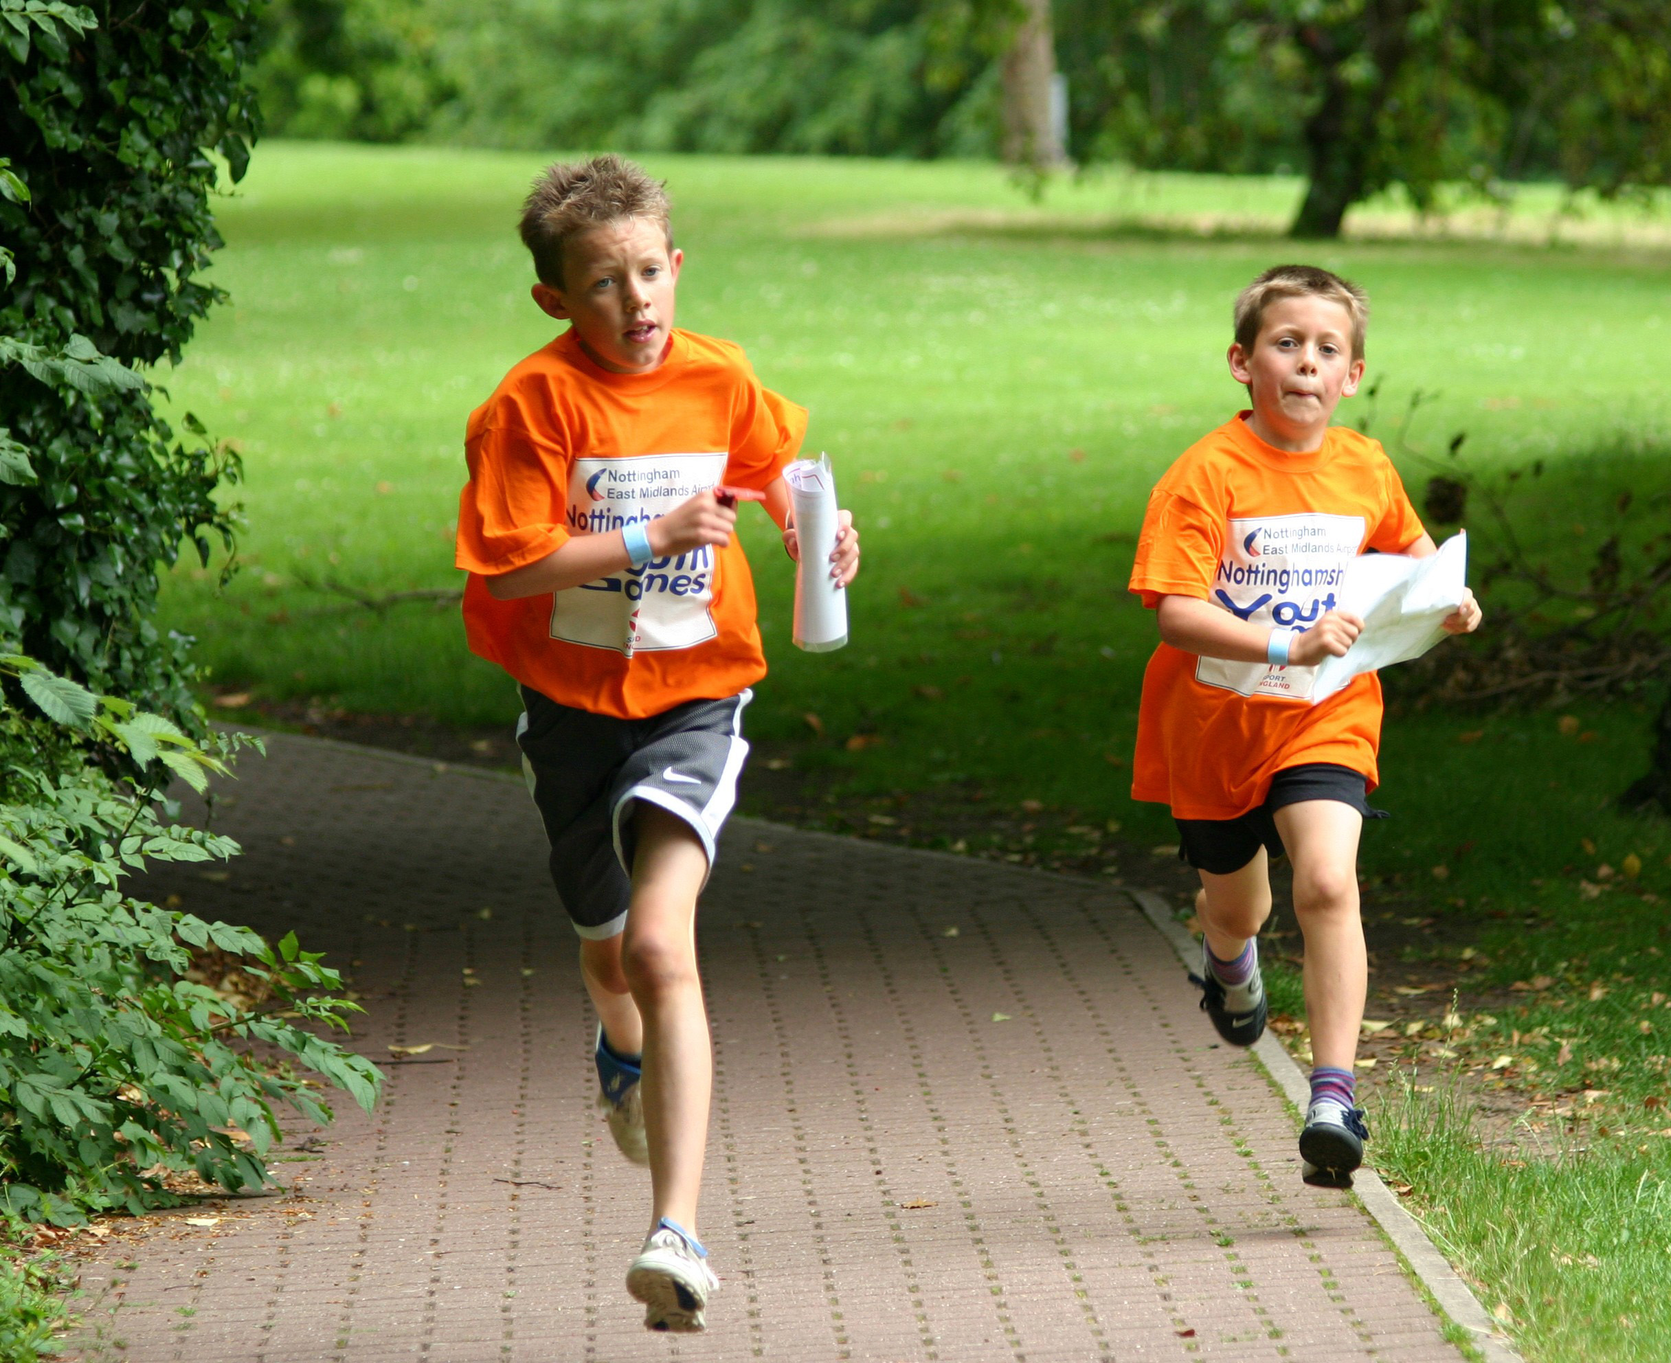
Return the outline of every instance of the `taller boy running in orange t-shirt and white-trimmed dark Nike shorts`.
[[[470,418],[465,623],[520,683],[516,742],[600,1019],[598,1104],[650,1166],[627,1290],[648,1328],[702,1330],[719,1279],[697,1238],[714,1081],[697,894],[765,675],[735,506],[764,501],[797,555],[782,468],[807,413],[737,346],[673,327],[683,252],[637,165],[553,165],[521,237],[533,301],[570,326]],[[859,535],[841,519],[830,573],[846,585]]]

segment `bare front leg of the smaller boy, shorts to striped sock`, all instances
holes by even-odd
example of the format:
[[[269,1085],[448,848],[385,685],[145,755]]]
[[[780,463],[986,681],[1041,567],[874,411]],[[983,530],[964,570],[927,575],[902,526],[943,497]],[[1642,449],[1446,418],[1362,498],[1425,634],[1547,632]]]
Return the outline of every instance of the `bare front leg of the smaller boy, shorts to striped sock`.
[[[1357,889],[1364,815],[1338,800],[1302,800],[1275,818],[1293,864],[1293,914],[1305,937],[1312,1059],[1350,1074],[1369,989]]]

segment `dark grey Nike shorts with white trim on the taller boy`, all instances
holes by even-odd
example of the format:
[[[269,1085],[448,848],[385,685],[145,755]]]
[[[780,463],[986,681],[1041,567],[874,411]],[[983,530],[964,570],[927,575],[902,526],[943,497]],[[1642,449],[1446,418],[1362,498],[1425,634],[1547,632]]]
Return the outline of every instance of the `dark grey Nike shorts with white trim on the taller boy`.
[[[613,937],[627,927],[638,800],[683,818],[712,869],[749,757],[742,708],[754,692],[688,700],[647,720],[575,710],[528,687],[521,698],[516,743],[551,842],[551,882],[575,932]]]

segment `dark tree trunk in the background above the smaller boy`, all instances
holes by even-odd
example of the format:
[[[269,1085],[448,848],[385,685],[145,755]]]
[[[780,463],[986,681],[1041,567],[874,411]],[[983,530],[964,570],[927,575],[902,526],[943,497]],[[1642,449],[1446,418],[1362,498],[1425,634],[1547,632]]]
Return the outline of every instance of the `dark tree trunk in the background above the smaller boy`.
[[[1288,236],[1338,237],[1347,209],[1365,195],[1380,115],[1410,52],[1417,8],[1420,0],[1369,0],[1362,27],[1302,28],[1300,48],[1318,75],[1320,100],[1305,120],[1310,184]],[[1360,53],[1375,72],[1367,82],[1348,73]]]

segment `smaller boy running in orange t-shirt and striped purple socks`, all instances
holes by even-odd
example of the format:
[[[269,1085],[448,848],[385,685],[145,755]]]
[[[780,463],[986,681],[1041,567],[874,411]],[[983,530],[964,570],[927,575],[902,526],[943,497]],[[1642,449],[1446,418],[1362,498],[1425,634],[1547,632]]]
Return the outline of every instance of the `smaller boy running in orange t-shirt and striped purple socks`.
[[[1305,937],[1312,1102],[1302,1174],[1350,1188],[1369,1129],[1354,1062],[1369,969],[1357,849],[1384,817],[1374,673],[1312,705],[1315,666],[1364,621],[1335,608],[1360,553],[1425,558],[1434,541],[1377,441],[1330,426],[1364,377],[1369,299],[1310,266],[1278,266],[1235,307],[1230,372],[1252,411],[1196,441],[1150,494],[1131,591],[1161,643],[1143,675],[1131,797],[1171,807],[1196,869],[1201,1009],[1233,1046],[1265,1031],[1255,937],[1270,915],[1270,857],[1293,865]],[[1472,593],[1444,626],[1479,628]],[[1193,979],[1193,977],[1191,977]]]

